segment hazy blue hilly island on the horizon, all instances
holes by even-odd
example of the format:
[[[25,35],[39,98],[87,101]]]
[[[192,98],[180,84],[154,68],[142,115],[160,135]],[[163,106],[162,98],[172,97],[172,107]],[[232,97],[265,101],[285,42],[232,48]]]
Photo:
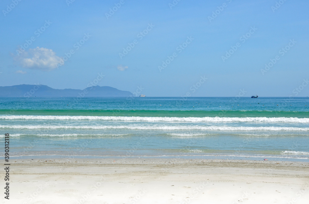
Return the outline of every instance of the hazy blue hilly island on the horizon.
[[[91,86],[80,89],[54,89],[46,85],[21,84],[0,86],[0,97],[128,97],[131,92],[109,86]]]

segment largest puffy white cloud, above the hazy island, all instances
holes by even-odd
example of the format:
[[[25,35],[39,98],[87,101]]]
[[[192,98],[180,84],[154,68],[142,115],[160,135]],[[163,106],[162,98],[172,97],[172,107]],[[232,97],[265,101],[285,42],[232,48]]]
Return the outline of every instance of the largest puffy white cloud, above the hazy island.
[[[60,64],[61,58],[56,55],[53,50],[36,47],[23,51],[23,53],[15,58],[21,66],[29,69],[40,69],[50,71],[57,68],[57,63]]]

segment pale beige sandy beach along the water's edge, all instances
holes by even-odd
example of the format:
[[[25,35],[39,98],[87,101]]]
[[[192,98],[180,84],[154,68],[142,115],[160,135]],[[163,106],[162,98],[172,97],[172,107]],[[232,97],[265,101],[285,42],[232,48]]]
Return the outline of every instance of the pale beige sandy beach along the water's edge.
[[[1,203],[309,201],[307,162],[61,158],[10,163],[10,200],[2,193]],[[3,173],[1,181],[4,186]]]

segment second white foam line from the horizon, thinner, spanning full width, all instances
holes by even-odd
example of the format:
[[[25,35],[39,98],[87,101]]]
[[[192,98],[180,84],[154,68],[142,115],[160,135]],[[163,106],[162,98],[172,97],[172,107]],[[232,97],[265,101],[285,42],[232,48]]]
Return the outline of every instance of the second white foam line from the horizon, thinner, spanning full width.
[[[223,130],[223,131],[309,131],[297,127],[243,127],[243,126],[134,126],[134,125],[0,125],[0,129],[138,129],[138,130]]]

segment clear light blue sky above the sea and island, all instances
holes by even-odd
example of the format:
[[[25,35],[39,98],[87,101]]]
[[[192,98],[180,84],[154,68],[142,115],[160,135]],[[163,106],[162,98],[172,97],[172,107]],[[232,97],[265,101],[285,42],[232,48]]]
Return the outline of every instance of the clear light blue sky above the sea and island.
[[[305,0],[2,0],[0,86],[309,96],[308,8]]]

